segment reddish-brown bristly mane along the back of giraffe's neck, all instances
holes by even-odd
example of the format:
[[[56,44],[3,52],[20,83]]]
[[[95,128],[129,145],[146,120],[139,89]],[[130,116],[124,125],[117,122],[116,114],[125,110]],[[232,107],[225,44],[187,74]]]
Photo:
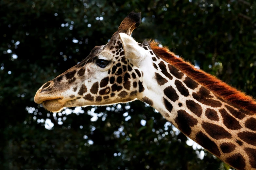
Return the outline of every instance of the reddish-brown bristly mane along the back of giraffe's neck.
[[[240,106],[247,111],[256,113],[256,101],[247,96],[244,92],[238,91],[218,78],[196,69],[189,62],[184,61],[182,58],[175,56],[167,47],[158,47],[155,41],[148,42],[151,49],[156,55],[161,57],[167,63],[173,65],[181,72],[192,78],[208,90],[212,91],[217,96],[225,99],[226,101]]]

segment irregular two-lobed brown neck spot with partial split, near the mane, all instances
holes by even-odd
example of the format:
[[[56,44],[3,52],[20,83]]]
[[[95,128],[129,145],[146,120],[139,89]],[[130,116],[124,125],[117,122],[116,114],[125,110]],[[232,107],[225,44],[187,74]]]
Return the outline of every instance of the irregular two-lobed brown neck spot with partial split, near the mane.
[[[192,96],[194,97],[194,99],[196,99],[198,102],[202,104],[212,106],[212,107],[222,106],[222,104],[219,101],[210,99],[210,98],[213,98],[213,96],[211,96],[210,91],[204,87],[201,87],[199,89],[199,92],[197,93],[193,92]]]

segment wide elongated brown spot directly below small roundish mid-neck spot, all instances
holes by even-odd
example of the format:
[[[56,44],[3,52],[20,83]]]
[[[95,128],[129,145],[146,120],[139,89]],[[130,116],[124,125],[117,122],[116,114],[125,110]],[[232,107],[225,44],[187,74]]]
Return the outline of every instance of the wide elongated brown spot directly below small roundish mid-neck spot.
[[[204,128],[205,132],[214,139],[218,140],[224,138],[231,138],[231,134],[228,131],[216,124],[203,121],[202,127]]]

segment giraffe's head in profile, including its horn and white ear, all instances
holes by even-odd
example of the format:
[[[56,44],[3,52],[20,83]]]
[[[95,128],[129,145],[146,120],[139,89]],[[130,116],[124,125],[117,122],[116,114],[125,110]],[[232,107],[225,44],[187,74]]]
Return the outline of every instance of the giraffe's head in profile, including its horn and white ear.
[[[94,47],[82,62],[46,82],[34,101],[57,112],[135,100],[144,91],[140,66],[147,49],[131,37],[140,23],[140,13],[128,14],[106,45]]]

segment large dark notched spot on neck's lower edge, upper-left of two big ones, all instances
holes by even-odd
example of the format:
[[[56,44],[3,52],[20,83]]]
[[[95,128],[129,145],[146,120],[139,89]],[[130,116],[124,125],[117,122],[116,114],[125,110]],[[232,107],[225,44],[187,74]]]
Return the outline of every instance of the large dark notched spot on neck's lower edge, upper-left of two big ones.
[[[178,110],[175,123],[177,123],[179,130],[185,135],[189,136],[191,134],[191,127],[195,126],[197,122],[198,121],[185,110]]]

